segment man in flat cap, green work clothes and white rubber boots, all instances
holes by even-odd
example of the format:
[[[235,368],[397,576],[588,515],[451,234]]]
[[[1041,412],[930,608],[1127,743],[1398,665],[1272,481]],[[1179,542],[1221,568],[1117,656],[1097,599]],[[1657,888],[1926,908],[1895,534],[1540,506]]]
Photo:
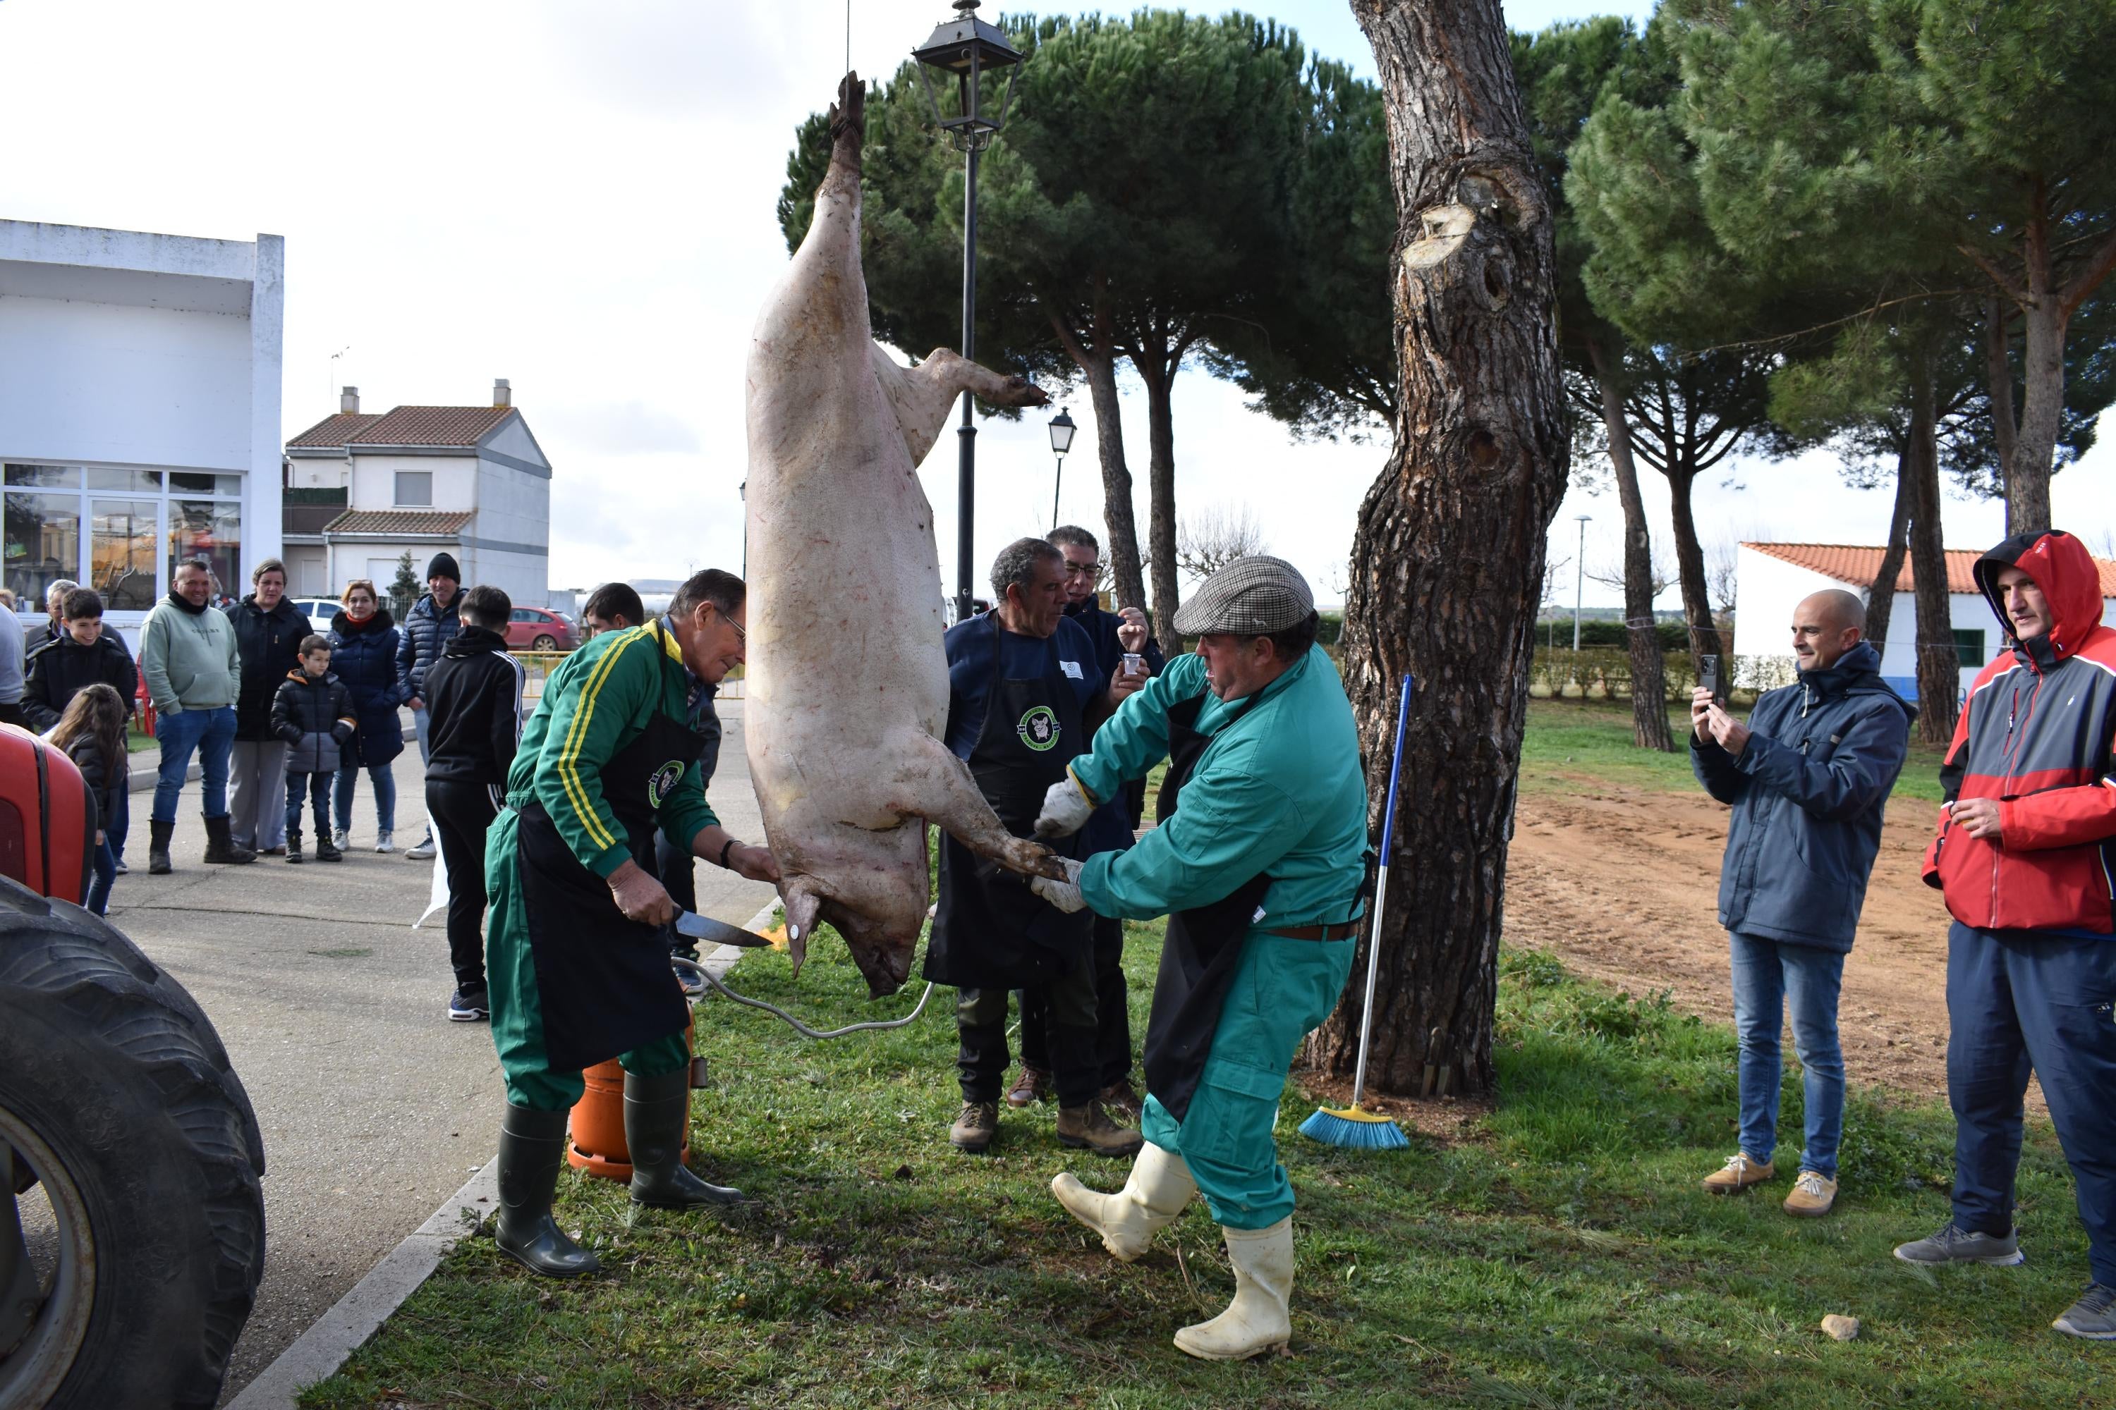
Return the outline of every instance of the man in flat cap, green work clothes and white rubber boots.
[[[1293,1186],[1272,1129],[1293,1051],[1329,1017],[1363,911],[1367,780],[1337,668],[1314,645],[1308,583],[1238,558],[1174,619],[1198,638],[1132,695],[1054,784],[1037,833],[1081,827],[1164,755],[1155,818],[1130,852],[1030,886],[1058,909],[1147,920],[1168,939],[1147,1025],[1145,1150],[1117,1194],[1073,1175],[1052,1192],[1130,1262],[1204,1192],[1234,1262],[1234,1304],[1176,1332],[1232,1361],[1287,1344]]]

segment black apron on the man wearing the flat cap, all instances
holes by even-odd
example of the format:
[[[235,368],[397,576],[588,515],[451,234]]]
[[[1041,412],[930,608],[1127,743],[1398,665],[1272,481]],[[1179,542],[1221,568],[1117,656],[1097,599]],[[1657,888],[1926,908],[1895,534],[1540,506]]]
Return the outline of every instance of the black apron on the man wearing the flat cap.
[[[1168,774],[1153,805],[1155,824],[1168,822],[1176,812],[1183,784],[1212,742],[1212,736],[1198,734],[1204,702],[1206,695],[1200,693],[1168,710]],[[1227,725],[1255,702],[1257,695],[1251,695]],[[1270,875],[1255,875],[1221,901],[1168,915],[1162,968],[1153,979],[1153,1013],[1147,1019],[1147,1093],[1179,1123],[1189,1112],[1204,1059],[1212,1055],[1219,1010],[1227,1004],[1227,987],[1242,962],[1242,936],[1255,924],[1270,888]]]

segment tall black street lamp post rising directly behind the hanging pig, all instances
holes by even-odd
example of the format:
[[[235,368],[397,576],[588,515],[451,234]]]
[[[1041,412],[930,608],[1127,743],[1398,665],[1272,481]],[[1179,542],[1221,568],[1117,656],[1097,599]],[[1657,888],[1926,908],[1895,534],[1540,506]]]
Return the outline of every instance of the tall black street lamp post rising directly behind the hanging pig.
[[[1007,42],[1007,36],[978,19],[978,0],[954,0],[954,19],[944,19],[925,44],[912,51],[918,59],[918,80],[925,85],[927,106],[933,123],[948,133],[948,140],[963,152],[963,357],[975,361],[975,319],[978,319],[978,156],[992,146],[992,137],[1007,125],[1007,108],[1014,104],[1014,80],[1020,76],[1022,53]],[[956,116],[946,116],[940,108],[940,93],[933,91],[933,72],[956,82]],[[980,108],[980,78],[995,70],[1007,70],[1007,91],[999,99],[999,114],[988,116]],[[975,554],[973,512],[978,495],[978,427],[971,421],[975,397],[963,393],[963,425],[956,429],[961,450],[956,463],[956,526],[954,526],[954,619],[969,619],[971,605],[971,556]]]

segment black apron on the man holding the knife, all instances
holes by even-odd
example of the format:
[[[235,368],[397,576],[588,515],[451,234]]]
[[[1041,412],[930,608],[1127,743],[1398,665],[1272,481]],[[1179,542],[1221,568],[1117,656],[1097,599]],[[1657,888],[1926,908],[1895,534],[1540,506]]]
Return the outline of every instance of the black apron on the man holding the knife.
[[[654,653],[664,670],[681,670],[662,647],[660,624]],[[603,799],[647,875],[654,875],[656,814],[705,744],[703,734],[656,712],[603,765]],[[609,884],[573,856],[540,801],[527,799],[516,812],[523,915],[550,1070],[592,1068],[683,1032],[690,1004],[669,968],[660,928],[624,917]]]

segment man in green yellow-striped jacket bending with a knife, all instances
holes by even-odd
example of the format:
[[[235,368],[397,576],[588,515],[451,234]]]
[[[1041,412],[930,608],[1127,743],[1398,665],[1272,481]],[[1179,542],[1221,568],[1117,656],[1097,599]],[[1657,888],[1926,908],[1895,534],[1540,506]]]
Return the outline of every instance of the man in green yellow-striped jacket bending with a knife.
[[[544,683],[485,841],[491,898],[487,985],[508,1087],[499,1127],[497,1243],[535,1273],[595,1273],[550,1218],[567,1112],[582,1068],[624,1063],[633,1201],[662,1209],[732,1203],[741,1190],[683,1169],[690,1125],[690,1006],[660,926],[654,829],[753,882],[777,882],[764,848],[736,841],[705,801],[696,721],[709,687],[743,662],[745,590],[707,569],[669,615],[603,632]]]

